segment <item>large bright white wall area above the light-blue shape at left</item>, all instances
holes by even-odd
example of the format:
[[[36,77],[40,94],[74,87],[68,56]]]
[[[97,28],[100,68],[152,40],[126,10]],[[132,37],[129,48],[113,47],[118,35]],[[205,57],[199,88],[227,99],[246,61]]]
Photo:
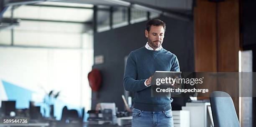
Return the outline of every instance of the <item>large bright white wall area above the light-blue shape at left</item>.
[[[0,47],[0,79],[36,92],[33,101],[42,102],[44,90],[61,91],[60,100],[88,109],[91,90],[87,74],[92,67],[92,53],[86,50]],[[6,100],[2,91],[0,99]]]

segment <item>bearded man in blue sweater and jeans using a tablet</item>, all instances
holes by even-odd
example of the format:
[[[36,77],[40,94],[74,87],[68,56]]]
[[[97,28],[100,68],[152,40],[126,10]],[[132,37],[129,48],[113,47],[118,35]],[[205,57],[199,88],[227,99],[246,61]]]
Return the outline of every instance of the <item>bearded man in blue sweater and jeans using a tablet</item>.
[[[150,20],[146,24],[145,46],[132,51],[127,59],[123,84],[135,92],[132,127],[173,127],[172,98],[151,97],[151,75],[158,71],[179,72],[177,57],[161,45],[166,24]]]

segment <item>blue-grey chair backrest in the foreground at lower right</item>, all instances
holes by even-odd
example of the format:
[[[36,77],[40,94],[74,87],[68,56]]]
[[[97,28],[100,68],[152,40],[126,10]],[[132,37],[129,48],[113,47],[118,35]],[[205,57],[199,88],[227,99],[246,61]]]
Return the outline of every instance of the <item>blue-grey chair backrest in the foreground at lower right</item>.
[[[226,92],[210,94],[214,127],[240,127],[233,100]]]

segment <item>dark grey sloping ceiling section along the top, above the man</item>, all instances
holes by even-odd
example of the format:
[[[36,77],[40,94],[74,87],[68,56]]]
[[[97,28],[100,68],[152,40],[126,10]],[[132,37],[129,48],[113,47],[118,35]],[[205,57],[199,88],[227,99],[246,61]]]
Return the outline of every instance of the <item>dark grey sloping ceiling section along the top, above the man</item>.
[[[193,0],[62,0],[61,2],[133,7],[179,20],[192,20]]]

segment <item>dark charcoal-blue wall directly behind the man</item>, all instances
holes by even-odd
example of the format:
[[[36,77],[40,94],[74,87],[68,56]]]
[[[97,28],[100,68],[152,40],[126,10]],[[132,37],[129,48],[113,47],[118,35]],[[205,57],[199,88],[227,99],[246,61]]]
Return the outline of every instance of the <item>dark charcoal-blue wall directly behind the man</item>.
[[[194,71],[193,22],[174,20],[169,17],[159,18],[166,23],[166,32],[162,46],[177,55],[180,70]],[[92,100],[92,109],[98,102],[115,102],[123,110],[123,74],[124,58],[132,50],[144,46],[146,22],[139,22],[125,27],[94,34],[94,55],[104,55],[104,63],[94,65],[102,72],[102,88],[98,100]],[[95,96],[95,93],[92,93]]]

